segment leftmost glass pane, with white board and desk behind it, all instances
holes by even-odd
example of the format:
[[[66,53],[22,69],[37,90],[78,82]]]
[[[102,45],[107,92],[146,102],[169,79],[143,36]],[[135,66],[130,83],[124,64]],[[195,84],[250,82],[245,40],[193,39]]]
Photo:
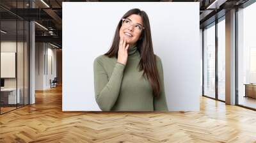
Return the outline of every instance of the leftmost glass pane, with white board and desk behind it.
[[[1,21],[1,113],[17,108],[17,21]],[[19,95],[19,94],[18,94]]]

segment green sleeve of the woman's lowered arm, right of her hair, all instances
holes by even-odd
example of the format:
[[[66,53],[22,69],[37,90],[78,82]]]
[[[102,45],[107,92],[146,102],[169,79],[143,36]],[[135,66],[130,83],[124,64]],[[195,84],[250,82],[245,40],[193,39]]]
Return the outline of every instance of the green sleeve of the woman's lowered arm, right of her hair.
[[[161,59],[156,56],[156,62],[157,62],[157,70],[159,73],[159,78],[160,78],[160,96],[159,98],[154,98],[154,110],[158,111],[168,111],[168,106],[166,103],[166,97],[165,97],[165,92],[164,92],[164,73],[163,73],[163,65],[161,62]]]

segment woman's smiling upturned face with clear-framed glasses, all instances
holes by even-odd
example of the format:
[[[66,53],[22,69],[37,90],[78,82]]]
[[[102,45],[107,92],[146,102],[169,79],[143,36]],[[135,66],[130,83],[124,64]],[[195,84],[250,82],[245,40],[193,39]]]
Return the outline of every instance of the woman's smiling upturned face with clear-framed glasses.
[[[120,28],[119,35],[120,37],[124,37],[126,43],[131,46],[136,44],[141,36],[143,20],[140,15],[136,14],[130,15],[126,19]]]

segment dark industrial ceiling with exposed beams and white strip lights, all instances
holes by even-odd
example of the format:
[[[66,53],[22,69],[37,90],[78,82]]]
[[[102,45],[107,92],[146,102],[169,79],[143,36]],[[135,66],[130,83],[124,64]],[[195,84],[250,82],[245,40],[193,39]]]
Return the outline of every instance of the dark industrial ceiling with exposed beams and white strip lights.
[[[12,20],[35,20],[36,41],[51,42],[61,47],[62,36],[62,2],[94,2],[96,0],[1,0],[0,14],[1,20],[6,21],[6,27],[9,26],[12,31]],[[100,1],[100,0],[99,0]],[[137,0],[130,0],[136,1]],[[143,0],[141,0],[143,1]],[[161,0],[161,2],[200,2],[200,27],[205,27],[214,22],[216,17],[225,15],[225,11],[239,6],[248,0]],[[215,1],[215,2],[214,2]],[[100,2],[109,2],[102,0]],[[115,1],[116,2],[116,1]],[[145,1],[146,2],[146,1]],[[149,2],[149,1],[148,1]],[[153,2],[153,1],[152,1]],[[31,8],[33,6],[33,8]],[[216,14],[218,13],[218,14]],[[217,15],[217,16],[216,16]],[[8,22],[10,24],[8,24]],[[41,26],[40,26],[41,25]],[[43,26],[43,27],[42,27]],[[46,28],[46,29],[45,29]],[[18,30],[21,30],[18,29]],[[19,31],[18,31],[19,33]]]

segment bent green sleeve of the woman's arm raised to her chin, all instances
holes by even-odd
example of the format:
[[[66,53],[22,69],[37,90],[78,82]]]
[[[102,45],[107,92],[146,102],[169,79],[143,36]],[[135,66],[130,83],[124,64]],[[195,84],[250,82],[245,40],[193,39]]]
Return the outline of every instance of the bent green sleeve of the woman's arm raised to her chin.
[[[95,99],[103,111],[109,111],[115,105],[120,92],[125,65],[116,62],[110,78],[99,59],[93,62]]]

